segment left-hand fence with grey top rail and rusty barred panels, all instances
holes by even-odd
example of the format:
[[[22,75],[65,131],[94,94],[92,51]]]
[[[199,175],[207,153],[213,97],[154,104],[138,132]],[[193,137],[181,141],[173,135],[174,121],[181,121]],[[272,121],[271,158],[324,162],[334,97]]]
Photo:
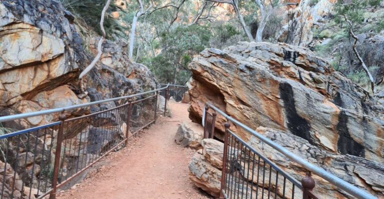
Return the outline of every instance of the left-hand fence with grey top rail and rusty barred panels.
[[[58,122],[0,135],[0,199],[41,199],[47,195],[55,199],[57,189],[154,123],[158,96],[168,96],[174,88],[177,86],[166,85],[130,96],[0,117],[0,122],[6,122],[60,113]],[[121,100],[127,102],[81,117],[65,115],[65,111],[75,108]],[[164,110],[166,106],[167,100]]]

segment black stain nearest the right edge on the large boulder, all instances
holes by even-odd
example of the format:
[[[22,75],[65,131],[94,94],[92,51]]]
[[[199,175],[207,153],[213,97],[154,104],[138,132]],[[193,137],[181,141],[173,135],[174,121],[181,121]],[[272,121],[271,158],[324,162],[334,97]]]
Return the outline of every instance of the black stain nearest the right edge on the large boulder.
[[[350,137],[348,128],[346,128],[347,122],[348,116],[344,113],[344,111],[341,111],[338,116],[338,123],[336,126],[338,131],[337,149],[341,154],[349,154],[364,158],[364,147]]]

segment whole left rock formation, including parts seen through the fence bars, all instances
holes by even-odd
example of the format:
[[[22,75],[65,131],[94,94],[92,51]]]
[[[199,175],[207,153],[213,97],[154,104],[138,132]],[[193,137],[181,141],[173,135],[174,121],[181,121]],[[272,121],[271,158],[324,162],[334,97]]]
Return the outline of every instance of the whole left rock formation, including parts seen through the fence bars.
[[[97,42],[98,38],[95,37],[93,40]],[[83,49],[82,42],[81,35],[76,31],[74,16],[65,10],[59,1],[1,0],[0,116],[120,97],[156,87],[152,74],[145,66],[130,62],[125,53],[124,45],[107,40],[103,43],[102,50],[104,53],[101,61],[83,79],[84,88],[82,89],[77,77],[92,59],[92,55]],[[91,52],[94,52],[93,47],[90,44]],[[124,102],[105,103],[90,108],[68,111],[65,114],[67,118],[71,118],[112,108],[121,103]],[[98,119],[106,120],[101,117]],[[108,118],[108,124],[113,125],[112,120],[115,119]],[[0,127],[21,130],[57,120],[58,114],[51,114],[4,122]],[[79,149],[79,143],[88,142],[91,146],[94,146],[93,143],[101,143],[97,147],[102,148],[102,145],[110,142],[110,140],[97,137],[100,127],[87,128],[87,125],[76,124],[68,127],[72,129],[68,130],[70,133],[66,134],[64,138],[65,143],[71,143],[77,147],[77,150],[82,150],[81,154],[86,157],[81,158],[84,161],[89,161],[89,154],[96,150],[92,148]],[[126,126],[116,126],[116,129],[125,132],[124,128]],[[52,131],[52,135],[33,134],[31,139],[25,139],[22,142],[28,145],[27,142],[29,141],[32,145],[38,139],[41,140],[41,144],[37,145],[38,151],[41,151],[42,148],[49,149],[53,145],[52,140],[57,135],[57,129],[49,130]],[[118,134],[119,131],[116,132],[113,133]],[[89,137],[90,133],[93,133],[93,136]],[[121,135],[113,134],[113,136],[110,139]],[[23,180],[25,186],[38,188],[36,179],[40,174],[40,169],[43,170],[39,166],[39,161],[43,162],[40,160],[41,157],[36,155],[36,159],[33,158],[34,153],[39,154],[38,151],[35,153],[31,149],[28,150],[28,148],[25,149],[21,146],[18,151],[19,155],[16,156],[16,147],[10,147],[7,153],[6,183],[14,184],[14,182]],[[70,168],[67,165],[73,165],[72,162],[76,161],[78,157],[71,157],[70,152],[67,153],[68,155],[62,163],[63,176],[67,172],[72,172],[70,169],[77,170],[77,168]],[[2,157],[2,155],[0,156]],[[52,161],[54,154],[50,154],[49,157],[51,160],[44,161]],[[24,164],[24,161],[29,159],[36,163],[32,167],[33,171],[30,167],[32,162]],[[8,170],[13,175],[9,165],[18,166],[15,169],[16,179],[8,180]],[[50,184],[50,182],[45,183]],[[5,184],[6,189],[9,187],[8,184]],[[25,193],[26,189],[29,188],[16,186],[14,197],[23,198],[22,193]]]

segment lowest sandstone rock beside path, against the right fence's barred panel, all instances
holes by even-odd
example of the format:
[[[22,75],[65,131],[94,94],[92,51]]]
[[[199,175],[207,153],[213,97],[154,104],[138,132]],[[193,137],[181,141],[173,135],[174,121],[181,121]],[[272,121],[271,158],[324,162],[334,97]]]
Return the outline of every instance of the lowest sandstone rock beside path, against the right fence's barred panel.
[[[213,167],[204,156],[195,154],[189,162],[189,179],[214,197],[220,195],[221,171]]]

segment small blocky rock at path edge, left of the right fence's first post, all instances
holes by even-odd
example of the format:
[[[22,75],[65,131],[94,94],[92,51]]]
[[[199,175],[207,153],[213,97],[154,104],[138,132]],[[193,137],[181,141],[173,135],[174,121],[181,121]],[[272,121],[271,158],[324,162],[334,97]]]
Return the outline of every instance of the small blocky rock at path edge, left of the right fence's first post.
[[[193,129],[191,126],[194,126]],[[196,126],[197,124],[193,123],[182,123],[178,126],[174,141],[182,147],[200,148],[203,130]]]

